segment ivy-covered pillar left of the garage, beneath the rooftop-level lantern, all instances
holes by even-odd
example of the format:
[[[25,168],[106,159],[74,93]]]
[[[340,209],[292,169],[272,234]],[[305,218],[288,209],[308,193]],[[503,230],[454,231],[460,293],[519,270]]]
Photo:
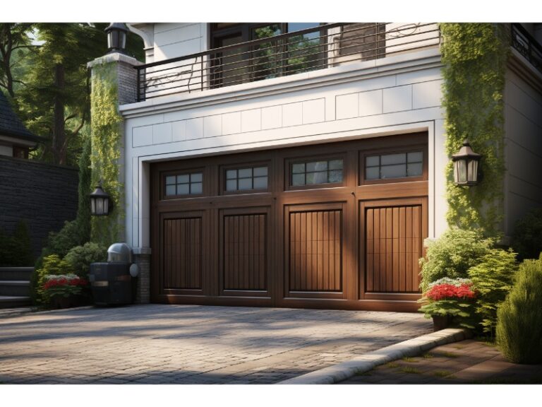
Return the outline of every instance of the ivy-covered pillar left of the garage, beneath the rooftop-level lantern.
[[[126,242],[126,201],[124,120],[119,105],[137,101],[137,59],[125,54],[110,53],[89,62],[92,90],[90,93],[90,125],[92,129],[92,186],[102,182],[110,196],[108,216],[91,220],[90,241],[109,247]],[[90,193],[90,191],[89,191]],[[134,262],[139,266],[135,301],[149,302],[150,249],[135,247]]]

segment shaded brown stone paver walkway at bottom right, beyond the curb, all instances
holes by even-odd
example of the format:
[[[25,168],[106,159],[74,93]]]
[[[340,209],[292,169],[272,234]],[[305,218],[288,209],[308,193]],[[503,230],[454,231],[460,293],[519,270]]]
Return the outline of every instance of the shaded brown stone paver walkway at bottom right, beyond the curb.
[[[510,363],[496,346],[467,339],[390,362],[340,384],[542,384],[542,365]]]

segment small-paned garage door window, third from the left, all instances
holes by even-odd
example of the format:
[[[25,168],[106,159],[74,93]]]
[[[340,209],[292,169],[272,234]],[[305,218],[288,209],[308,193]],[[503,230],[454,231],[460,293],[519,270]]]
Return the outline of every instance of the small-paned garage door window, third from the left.
[[[291,186],[342,182],[342,160],[308,161],[291,165]]]

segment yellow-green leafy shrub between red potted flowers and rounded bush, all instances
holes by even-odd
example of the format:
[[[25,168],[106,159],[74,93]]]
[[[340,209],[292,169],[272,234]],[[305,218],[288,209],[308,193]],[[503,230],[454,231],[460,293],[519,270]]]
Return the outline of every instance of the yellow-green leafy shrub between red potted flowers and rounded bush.
[[[476,314],[483,332],[493,337],[497,325],[497,309],[512,288],[517,271],[516,254],[503,249],[491,249],[481,262],[469,269],[476,290]]]

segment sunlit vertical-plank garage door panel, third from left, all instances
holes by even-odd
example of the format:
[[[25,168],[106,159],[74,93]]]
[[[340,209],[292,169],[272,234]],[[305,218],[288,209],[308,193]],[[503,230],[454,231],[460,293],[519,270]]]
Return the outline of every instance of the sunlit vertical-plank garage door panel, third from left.
[[[287,211],[289,292],[342,293],[342,208]]]

